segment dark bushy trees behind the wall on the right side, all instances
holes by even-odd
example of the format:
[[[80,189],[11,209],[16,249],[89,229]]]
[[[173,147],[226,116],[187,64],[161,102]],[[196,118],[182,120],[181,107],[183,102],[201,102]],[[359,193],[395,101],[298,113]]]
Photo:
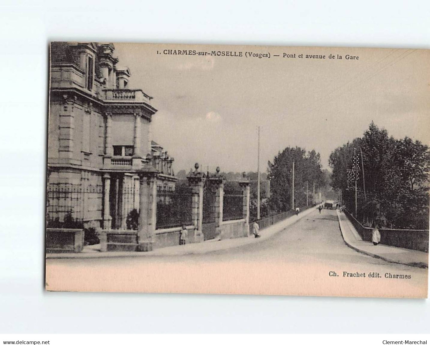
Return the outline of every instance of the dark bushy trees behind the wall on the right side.
[[[344,203],[350,211],[355,209],[355,191],[347,188],[347,169],[351,169],[354,148],[360,160],[357,218],[366,225],[372,225],[379,205],[388,227],[427,229],[428,146],[408,137],[394,139],[388,136],[386,129],[380,129],[372,122],[361,138],[336,148],[329,158],[331,183],[333,188],[342,191]]]

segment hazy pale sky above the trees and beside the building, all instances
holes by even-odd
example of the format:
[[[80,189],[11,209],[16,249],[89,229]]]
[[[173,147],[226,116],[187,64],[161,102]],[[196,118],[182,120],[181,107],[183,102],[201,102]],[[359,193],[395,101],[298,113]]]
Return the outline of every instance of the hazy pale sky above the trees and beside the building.
[[[176,172],[196,162],[205,171],[256,171],[258,126],[261,171],[287,146],[315,149],[328,168],[330,153],[362,136],[372,120],[395,138],[430,142],[427,50],[114,44],[118,66],[132,74],[128,87],[154,97],[152,138],[175,158]],[[166,55],[164,49],[270,58]]]

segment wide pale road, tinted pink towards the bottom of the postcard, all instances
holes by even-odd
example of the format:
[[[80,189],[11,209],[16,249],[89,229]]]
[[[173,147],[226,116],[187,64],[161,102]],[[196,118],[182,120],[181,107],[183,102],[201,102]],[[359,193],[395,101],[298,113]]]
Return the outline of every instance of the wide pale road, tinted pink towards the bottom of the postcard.
[[[391,297],[425,296],[427,272],[350,249],[334,210],[314,211],[269,239],[211,253],[49,259],[46,267],[52,290]]]

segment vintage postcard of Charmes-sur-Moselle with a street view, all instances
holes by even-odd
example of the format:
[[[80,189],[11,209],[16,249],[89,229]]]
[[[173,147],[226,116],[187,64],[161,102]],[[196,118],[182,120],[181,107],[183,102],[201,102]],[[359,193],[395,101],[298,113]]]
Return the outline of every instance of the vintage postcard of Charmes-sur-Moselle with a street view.
[[[52,42],[46,290],[427,298],[430,51]]]

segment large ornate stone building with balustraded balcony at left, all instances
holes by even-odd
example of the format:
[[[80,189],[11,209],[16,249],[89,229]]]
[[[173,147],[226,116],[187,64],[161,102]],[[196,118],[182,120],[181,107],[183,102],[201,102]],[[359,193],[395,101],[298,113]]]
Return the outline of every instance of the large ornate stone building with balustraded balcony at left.
[[[117,64],[112,43],[51,44],[48,227],[126,229],[133,209],[153,212],[151,188],[175,186],[173,158],[151,138],[152,97]]]

